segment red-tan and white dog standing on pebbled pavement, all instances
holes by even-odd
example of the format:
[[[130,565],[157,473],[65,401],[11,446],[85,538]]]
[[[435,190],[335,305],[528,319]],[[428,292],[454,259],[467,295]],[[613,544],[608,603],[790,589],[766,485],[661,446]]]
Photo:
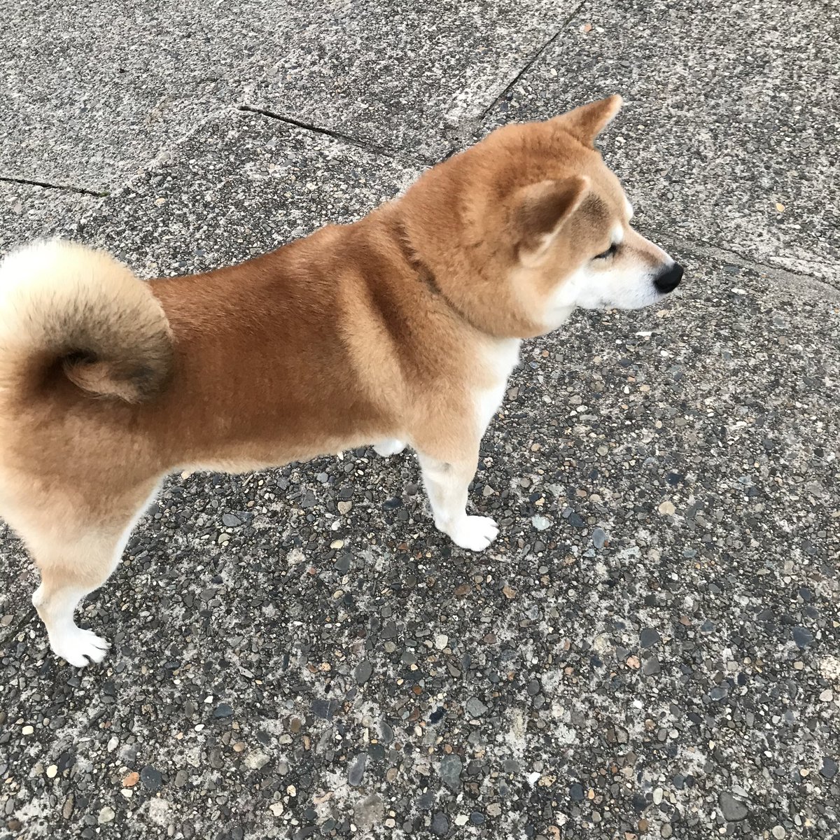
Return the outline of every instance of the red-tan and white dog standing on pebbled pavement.
[[[468,516],[479,444],[521,339],[575,307],[643,307],[682,270],[630,227],[594,149],[610,97],[499,129],[359,222],[242,265],[146,283],[101,251],[31,244],[0,265],[0,515],[41,574],[55,654],[165,475],[415,449],[435,525]]]

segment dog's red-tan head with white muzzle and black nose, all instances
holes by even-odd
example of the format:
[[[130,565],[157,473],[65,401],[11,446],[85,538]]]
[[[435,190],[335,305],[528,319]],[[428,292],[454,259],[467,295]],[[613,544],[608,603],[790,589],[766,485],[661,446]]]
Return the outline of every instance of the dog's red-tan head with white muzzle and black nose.
[[[680,266],[631,227],[594,146],[621,104],[498,129],[407,193],[412,244],[476,326],[547,333],[575,307],[636,309],[679,284]]]

